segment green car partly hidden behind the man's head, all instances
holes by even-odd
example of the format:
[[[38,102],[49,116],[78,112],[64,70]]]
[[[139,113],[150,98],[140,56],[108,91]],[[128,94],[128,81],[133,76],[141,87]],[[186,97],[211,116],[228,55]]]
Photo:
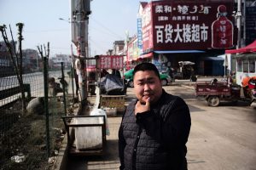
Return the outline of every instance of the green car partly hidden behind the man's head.
[[[134,87],[132,72],[133,72],[133,69],[131,69],[129,71],[126,71],[125,74],[124,74],[125,82],[127,83],[128,87],[131,87],[131,88]],[[166,75],[166,74],[161,74],[160,73],[160,79],[161,79],[161,82],[162,82],[163,86],[166,86],[166,85],[168,85],[168,83],[172,82],[172,78],[170,76]]]

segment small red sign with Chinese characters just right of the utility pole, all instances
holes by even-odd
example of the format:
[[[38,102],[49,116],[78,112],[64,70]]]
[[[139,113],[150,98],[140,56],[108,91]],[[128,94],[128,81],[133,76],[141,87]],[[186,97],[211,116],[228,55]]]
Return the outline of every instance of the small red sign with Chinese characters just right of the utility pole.
[[[101,69],[121,69],[124,57],[121,55],[100,55]]]

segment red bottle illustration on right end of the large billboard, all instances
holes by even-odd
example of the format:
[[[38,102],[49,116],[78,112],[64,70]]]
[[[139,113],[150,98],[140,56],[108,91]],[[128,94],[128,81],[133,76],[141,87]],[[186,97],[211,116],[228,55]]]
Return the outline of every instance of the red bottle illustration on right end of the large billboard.
[[[227,18],[227,8],[218,6],[217,20],[212,22],[212,48],[233,47],[233,23]]]

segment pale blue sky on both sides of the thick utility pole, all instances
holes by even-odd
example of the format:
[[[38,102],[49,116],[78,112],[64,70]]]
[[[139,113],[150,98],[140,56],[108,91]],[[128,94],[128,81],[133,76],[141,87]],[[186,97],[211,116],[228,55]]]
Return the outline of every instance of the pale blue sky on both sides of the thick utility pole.
[[[105,54],[113,48],[115,40],[124,40],[125,31],[129,31],[130,36],[136,34],[139,2],[91,1],[89,43],[92,56]],[[10,25],[16,40],[15,24],[24,23],[23,48],[37,49],[38,45],[49,42],[51,55],[71,54],[70,24],[65,21],[69,14],[69,0],[0,0],[0,25]],[[3,41],[2,35],[0,41]]]

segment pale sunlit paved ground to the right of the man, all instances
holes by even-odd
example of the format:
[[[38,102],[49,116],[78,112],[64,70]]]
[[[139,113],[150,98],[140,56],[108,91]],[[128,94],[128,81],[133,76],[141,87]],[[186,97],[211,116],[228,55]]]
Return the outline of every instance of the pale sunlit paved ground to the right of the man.
[[[168,90],[169,91],[169,90]],[[191,111],[188,163],[190,170],[256,169],[256,105],[222,103],[209,107],[203,99],[189,95],[193,90],[172,88],[181,93]]]

